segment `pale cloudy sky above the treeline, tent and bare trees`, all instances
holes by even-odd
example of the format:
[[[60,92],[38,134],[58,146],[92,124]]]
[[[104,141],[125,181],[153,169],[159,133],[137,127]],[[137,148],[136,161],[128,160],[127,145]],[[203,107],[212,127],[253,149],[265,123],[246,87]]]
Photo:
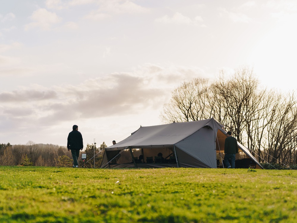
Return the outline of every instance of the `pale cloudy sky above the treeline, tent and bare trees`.
[[[0,0],[0,143],[108,146],[163,124],[171,91],[252,67],[291,91],[297,1]]]

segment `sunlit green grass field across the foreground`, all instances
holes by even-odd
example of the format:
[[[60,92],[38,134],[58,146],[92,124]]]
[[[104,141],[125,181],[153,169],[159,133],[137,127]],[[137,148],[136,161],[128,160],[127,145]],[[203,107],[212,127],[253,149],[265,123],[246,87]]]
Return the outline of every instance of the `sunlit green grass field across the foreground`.
[[[297,222],[297,171],[0,167],[0,222]]]

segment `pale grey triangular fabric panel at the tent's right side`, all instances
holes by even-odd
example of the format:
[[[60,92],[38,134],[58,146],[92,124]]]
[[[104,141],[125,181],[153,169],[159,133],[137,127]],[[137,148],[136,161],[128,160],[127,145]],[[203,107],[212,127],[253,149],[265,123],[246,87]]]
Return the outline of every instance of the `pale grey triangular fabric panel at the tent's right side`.
[[[175,146],[199,161],[204,167],[217,168],[216,142],[214,130],[203,127]],[[189,157],[177,156],[179,163],[189,164]],[[200,166],[199,166],[200,167]]]

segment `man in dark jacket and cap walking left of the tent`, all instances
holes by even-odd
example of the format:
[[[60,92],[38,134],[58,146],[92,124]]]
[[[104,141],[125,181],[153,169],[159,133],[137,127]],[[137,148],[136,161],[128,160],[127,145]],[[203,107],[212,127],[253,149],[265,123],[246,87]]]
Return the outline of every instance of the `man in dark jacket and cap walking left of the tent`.
[[[69,132],[67,138],[67,149],[71,150],[73,158],[73,167],[78,167],[79,150],[83,150],[83,136],[78,131],[78,126],[73,125],[72,132]]]

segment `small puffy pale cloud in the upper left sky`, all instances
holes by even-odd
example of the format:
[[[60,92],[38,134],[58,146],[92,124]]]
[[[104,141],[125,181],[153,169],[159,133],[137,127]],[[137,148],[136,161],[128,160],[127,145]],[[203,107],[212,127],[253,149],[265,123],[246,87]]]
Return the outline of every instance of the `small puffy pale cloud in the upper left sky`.
[[[25,25],[25,30],[40,28],[42,30],[49,30],[54,24],[59,23],[62,19],[54,12],[49,12],[46,9],[37,9],[31,15],[31,22]]]

